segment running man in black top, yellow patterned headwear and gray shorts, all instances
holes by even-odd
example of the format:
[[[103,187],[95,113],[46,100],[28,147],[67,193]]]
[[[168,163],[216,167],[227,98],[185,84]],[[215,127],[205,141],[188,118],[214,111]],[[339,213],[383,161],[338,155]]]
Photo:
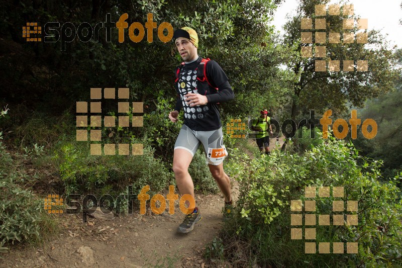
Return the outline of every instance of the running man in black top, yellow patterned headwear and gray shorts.
[[[181,195],[189,194],[194,197],[194,185],[188,166],[198,146],[203,144],[211,174],[225,197],[225,208],[230,208],[230,179],[223,169],[223,160],[228,152],[223,144],[217,103],[230,101],[235,95],[219,64],[198,56],[198,36],[193,29],[177,29],[173,40],[184,61],[176,70],[177,102],[174,111],[169,113],[169,119],[177,122],[180,110],[184,112],[184,124],[174,145],[173,154],[173,171],[178,190]],[[229,212],[230,209],[226,211]],[[201,219],[195,203],[193,212],[185,216],[177,232],[190,232]]]

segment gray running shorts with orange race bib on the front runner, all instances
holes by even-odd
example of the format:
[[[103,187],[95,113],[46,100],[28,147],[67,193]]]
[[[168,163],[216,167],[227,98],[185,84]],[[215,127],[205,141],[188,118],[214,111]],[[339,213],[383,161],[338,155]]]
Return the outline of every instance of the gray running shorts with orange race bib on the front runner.
[[[228,156],[223,145],[222,128],[211,131],[194,131],[183,125],[174,144],[174,149],[184,149],[194,156],[201,143],[207,156],[207,164],[219,165]]]

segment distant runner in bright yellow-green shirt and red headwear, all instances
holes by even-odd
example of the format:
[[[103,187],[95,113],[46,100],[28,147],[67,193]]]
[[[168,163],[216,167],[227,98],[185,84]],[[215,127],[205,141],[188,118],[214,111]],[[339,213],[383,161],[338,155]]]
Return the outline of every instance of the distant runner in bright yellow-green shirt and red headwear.
[[[260,153],[270,154],[269,151],[269,134],[268,134],[268,126],[269,126],[269,133],[272,135],[272,126],[271,126],[271,119],[267,116],[268,111],[266,109],[261,110],[261,117],[258,119],[254,119],[252,122],[251,129],[254,131],[258,131],[256,134],[256,142],[257,146],[260,149]]]

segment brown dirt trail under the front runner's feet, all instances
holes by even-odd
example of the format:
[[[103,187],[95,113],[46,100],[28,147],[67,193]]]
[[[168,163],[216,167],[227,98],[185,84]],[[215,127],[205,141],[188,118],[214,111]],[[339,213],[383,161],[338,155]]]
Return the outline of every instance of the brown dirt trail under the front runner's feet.
[[[271,141],[273,149],[275,139]],[[232,191],[236,200],[239,193],[236,183]],[[175,267],[209,267],[203,253],[223,226],[224,199],[221,193],[195,194],[195,198],[203,219],[188,234],[176,233],[184,218],[178,202],[174,215],[167,212],[153,215],[150,210],[140,215],[139,207],[135,207],[135,213],[122,217],[99,213],[96,218],[88,217],[87,223],[82,223],[82,215],[57,215],[61,227],[58,237],[39,248],[12,248],[10,253],[3,254],[4,259],[0,258],[0,266],[153,267],[159,260],[159,264],[164,261],[163,267],[169,263]],[[85,246],[89,248],[82,248]]]

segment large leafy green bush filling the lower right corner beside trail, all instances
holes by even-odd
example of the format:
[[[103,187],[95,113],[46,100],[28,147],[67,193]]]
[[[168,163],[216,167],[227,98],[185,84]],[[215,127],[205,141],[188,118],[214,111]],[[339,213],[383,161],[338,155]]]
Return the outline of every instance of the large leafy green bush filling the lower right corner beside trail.
[[[379,162],[367,162],[352,144],[330,138],[302,154],[274,151],[236,170],[240,183],[236,217],[223,233],[223,241],[234,241],[225,245],[231,248],[226,252],[230,262],[277,267],[402,264],[400,191],[393,181],[379,183]],[[341,214],[332,212],[333,200],[358,201],[358,226],[315,226],[317,242],[356,241],[358,254],[305,254],[304,241],[290,239],[290,214],[294,213],[290,201],[304,201],[306,186],[344,187],[342,199],[317,196],[317,219],[320,214],[330,214],[331,219]],[[249,245],[247,251],[234,250],[242,243]]]

